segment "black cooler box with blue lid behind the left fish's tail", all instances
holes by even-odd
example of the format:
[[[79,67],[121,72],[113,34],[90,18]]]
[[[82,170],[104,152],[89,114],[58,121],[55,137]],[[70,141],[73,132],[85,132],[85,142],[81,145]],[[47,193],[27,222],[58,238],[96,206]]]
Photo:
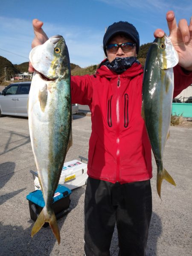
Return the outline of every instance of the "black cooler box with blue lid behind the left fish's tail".
[[[54,210],[57,219],[67,214],[67,212],[69,211],[70,194],[71,190],[60,184],[55,190],[55,195],[52,198],[52,209]],[[26,196],[26,199],[29,201],[30,217],[32,220],[36,221],[38,215],[45,206],[42,191],[35,190],[29,193],[29,195]],[[47,227],[48,225],[48,223],[45,223],[44,227]]]

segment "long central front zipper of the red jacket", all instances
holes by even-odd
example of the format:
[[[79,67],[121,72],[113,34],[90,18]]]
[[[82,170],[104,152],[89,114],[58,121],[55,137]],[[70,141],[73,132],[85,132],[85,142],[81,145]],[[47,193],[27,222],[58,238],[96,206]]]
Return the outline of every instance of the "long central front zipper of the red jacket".
[[[119,87],[120,76],[117,79],[117,100],[116,100],[116,181],[119,182]]]

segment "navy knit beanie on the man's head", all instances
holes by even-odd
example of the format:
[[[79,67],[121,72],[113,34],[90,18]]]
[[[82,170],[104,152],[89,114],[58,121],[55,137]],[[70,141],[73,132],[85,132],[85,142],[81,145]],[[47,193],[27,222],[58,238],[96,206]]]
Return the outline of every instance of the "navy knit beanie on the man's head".
[[[111,26],[108,26],[107,31],[105,32],[105,35],[103,37],[103,49],[105,52],[105,55],[107,56],[106,52],[106,46],[111,38],[113,38],[116,34],[125,34],[130,39],[132,39],[136,43],[136,50],[137,54],[140,49],[140,37],[139,33],[137,32],[137,29],[132,25],[131,23],[128,23],[127,21],[119,21],[113,23]]]

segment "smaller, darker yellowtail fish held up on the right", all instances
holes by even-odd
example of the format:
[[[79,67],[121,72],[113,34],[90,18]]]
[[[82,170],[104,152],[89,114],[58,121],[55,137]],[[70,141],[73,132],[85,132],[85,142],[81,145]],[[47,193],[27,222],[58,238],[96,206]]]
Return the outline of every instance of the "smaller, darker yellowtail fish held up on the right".
[[[163,150],[169,136],[174,90],[173,67],[177,63],[178,55],[170,38],[167,35],[156,38],[145,63],[142,116],[157,164],[157,192],[160,198],[163,179],[176,186],[163,167]]]

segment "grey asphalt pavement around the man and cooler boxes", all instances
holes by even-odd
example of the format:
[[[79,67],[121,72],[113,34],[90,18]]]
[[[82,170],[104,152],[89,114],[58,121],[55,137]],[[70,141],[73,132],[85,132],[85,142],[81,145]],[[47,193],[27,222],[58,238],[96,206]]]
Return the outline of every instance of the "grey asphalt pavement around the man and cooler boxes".
[[[88,112],[88,111],[87,111]],[[88,156],[90,116],[73,116],[73,146],[66,161]],[[192,255],[192,129],[171,127],[164,152],[164,166],[177,186],[163,181],[162,201],[156,191],[156,164],[153,159],[151,187],[153,214],[147,256]],[[36,171],[29,138],[28,119],[0,118],[0,256],[83,256],[85,186],[74,189],[70,212],[58,220],[61,244],[49,227],[31,238],[26,195],[34,191],[30,170]],[[116,229],[111,256],[118,255]]]

